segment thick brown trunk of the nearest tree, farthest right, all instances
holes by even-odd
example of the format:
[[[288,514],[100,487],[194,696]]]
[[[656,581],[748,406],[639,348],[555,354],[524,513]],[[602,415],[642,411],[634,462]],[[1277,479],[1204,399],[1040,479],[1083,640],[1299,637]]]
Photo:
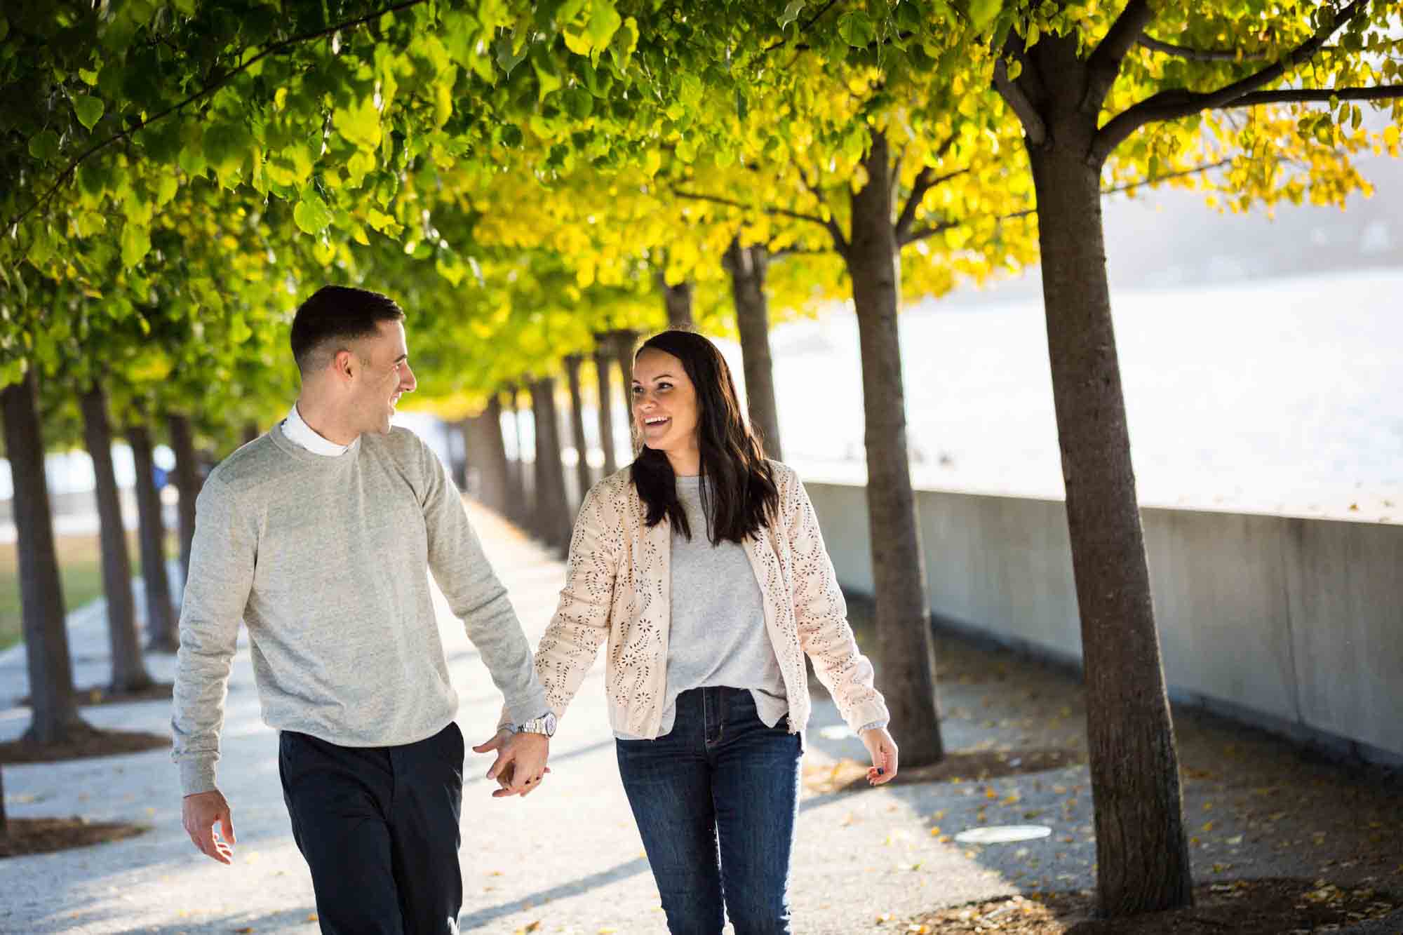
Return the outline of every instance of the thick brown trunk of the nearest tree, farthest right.
[[[1041,69],[1051,139],[1028,154],[1082,616],[1097,903],[1121,917],[1190,906],[1193,879],[1111,329],[1100,167],[1086,157],[1096,122],[1078,108],[1075,38],[1044,42],[1035,51],[1058,66]]]

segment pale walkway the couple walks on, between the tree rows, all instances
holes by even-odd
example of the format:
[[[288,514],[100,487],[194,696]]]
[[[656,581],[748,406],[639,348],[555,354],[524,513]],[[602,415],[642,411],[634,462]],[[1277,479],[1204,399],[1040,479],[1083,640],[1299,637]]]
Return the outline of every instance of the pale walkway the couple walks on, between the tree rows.
[[[473,515],[535,643],[554,608],[563,566],[491,514],[473,507]],[[495,723],[499,695],[462,626],[441,611],[462,696],[459,723],[474,743]],[[108,675],[104,628],[101,604],[70,616],[79,685],[97,685]],[[1073,682],[967,644],[941,649],[943,730],[950,748],[1016,751],[1080,743],[1083,722]],[[171,677],[171,657],[147,661],[157,677]],[[540,792],[528,799],[491,799],[492,786],[480,778],[490,758],[469,752],[464,932],[665,931],[619,782],[600,675],[596,667],[561,722],[553,774]],[[28,710],[17,708],[15,699],[27,691],[22,647],[0,654],[0,740],[25,729]],[[146,702],[90,708],[84,715],[101,727],[164,733],[170,712],[164,703]],[[860,758],[861,744],[843,733],[833,705],[815,698],[807,762]],[[220,785],[239,837],[229,868],[199,856],[181,830],[180,789],[167,751],[6,767],[6,804],[13,817],[81,814],[140,821],[152,830],[115,844],[0,862],[0,931],[314,932],[311,883],[288,828],[276,737],[260,720],[247,651],[234,664],[223,738]],[[1218,823],[1218,831],[1200,831],[1202,840],[1195,840],[1198,879],[1331,873],[1331,879],[1343,875],[1403,889],[1397,840],[1403,797],[1396,790],[1329,765],[1312,767],[1302,779],[1299,771],[1291,772],[1296,769],[1291,748],[1232,726],[1190,719],[1181,743],[1191,827]],[[1289,785],[1296,781],[1301,788]],[[981,821],[1028,816],[1052,825],[1054,837],[982,849],[947,837]],[[937,906],[1037,887],[1089,887],[1090,821],[1085,767],[982,783],[810,795],[801,804],[793,875],[796,931],[894,931],[891,922]]]

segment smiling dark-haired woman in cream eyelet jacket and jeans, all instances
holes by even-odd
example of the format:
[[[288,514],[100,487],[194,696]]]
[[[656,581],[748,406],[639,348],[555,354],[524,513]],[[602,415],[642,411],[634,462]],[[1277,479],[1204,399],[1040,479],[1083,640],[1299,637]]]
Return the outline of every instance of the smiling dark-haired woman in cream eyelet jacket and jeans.
[[[897,775],[887,706],[808,496],[765,460],[716,345],[650,338],[631,394],[643,448],[579,508],[536,671],[560,717],[607,637],[619,774],[668,928],[714,935],[728,911],[737,935],[788,932],[804,653],[871,754],[874,785]]]

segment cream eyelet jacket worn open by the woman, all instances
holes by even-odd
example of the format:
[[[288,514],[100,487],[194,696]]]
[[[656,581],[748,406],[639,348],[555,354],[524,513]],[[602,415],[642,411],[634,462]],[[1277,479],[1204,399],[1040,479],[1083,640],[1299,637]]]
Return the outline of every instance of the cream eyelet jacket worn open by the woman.
[[[853,640],[814,505],[794,470],[770,465],[779,515],[745,542],[745,552],[784,677],[790,731],[803,731],[810,716],[804,653],[853,730],[885,722],[887,705],[873,687],[871,663]],[[655,738],[668,661],[672,529],[666,518],[650,529],[645,517],[627,468],[585,496],[570,541],[565,587],[536,650],[536,674],[563,717],[607,637],[609,723],[616,733]]]

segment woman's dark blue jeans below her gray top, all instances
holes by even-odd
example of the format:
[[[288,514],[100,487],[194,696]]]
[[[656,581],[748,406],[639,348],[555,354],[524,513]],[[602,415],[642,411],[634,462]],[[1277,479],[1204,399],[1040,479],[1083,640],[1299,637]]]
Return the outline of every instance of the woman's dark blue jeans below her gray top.
[[[735,935],[788,935],[803,747],[787,722],[766,727],[746,689],[694,688],[671,733],[617,750],[668,931],[718,935],[730,913]]]

